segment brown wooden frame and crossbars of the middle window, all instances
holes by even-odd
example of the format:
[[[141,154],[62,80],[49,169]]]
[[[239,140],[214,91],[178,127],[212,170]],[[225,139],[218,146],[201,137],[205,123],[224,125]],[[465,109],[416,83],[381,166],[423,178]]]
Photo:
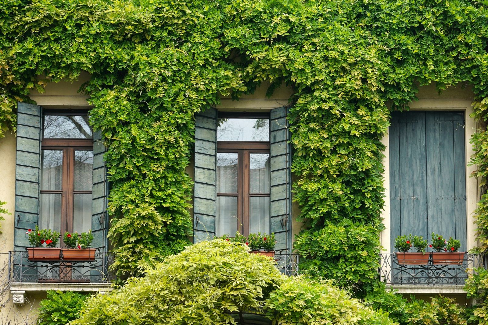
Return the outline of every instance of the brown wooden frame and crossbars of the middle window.
[[[237,197],[237,230],[249,234],[249,203],[251,197],[269,197],[270,193],[250,193],[250,154],[268,153],[270,144],[266,141],[218,141],[217,153],[237,153],[237,193],[217,192],[217,196]],[[231,234],[232,235],[232,234]]]

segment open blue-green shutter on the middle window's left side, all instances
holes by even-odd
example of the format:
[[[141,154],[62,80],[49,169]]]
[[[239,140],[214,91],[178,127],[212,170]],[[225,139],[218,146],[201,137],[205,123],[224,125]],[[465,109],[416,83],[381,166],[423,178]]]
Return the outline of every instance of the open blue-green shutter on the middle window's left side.
[[[217,110],[195,115],[195,190],[193,242],[215,235],[215,170],[217,155]]]

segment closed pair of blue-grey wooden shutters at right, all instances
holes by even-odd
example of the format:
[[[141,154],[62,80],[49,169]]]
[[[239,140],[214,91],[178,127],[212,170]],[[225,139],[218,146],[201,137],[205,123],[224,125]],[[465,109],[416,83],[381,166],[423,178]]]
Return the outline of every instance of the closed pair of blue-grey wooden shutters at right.
[[[391,247],[396,236],[466,235],[464,113],[393,112],[389,129]]]

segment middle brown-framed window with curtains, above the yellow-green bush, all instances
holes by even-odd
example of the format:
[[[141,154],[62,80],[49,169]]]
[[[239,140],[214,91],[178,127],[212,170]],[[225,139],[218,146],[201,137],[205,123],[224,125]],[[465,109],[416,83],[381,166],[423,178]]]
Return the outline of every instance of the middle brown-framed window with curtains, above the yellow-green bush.
[[[269,118],[219,115],[216,235],[269,233]]]

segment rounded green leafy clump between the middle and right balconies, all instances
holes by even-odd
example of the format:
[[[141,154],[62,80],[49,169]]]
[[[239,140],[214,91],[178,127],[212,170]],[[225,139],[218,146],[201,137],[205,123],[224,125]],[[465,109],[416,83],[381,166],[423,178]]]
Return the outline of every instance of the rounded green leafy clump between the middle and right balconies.
[[[377,230],[350,220],[305,230],[297,236],[295,249],[303,257],[300,271],[314,277],[371,286],[378,278],[380,242]]]

